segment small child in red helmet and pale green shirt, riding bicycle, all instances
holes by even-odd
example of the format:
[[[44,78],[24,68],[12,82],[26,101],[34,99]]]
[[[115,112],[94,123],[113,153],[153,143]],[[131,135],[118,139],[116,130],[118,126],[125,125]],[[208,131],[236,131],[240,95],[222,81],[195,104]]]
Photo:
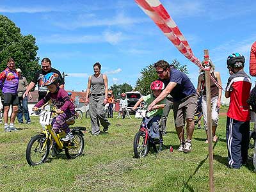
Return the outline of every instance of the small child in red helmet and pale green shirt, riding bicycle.
[[[151,94],[143,96],[136,102],[132,110],[135,110],[138,106],[140,106],[141,102],[145,102],[149,105],[153,100],[160,95],[162,90],[164,90],[164,83],[162,81],[156,80],[150,84],[150,89],[152,90]],[[163,115],[163,108],[165,106],[166,99],[161,100],[161,102],[157,103],[152,111],[148,112],[145,117],[145,123],[147,127],[149,127],[149,135],[154,141],[159,141],[159,121],[161,116]]]

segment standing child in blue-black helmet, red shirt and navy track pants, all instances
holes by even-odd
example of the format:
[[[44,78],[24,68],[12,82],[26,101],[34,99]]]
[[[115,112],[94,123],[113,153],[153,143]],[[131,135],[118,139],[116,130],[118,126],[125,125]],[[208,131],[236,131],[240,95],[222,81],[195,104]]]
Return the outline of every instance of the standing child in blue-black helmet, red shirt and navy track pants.
[[[252,83],[243,70],[244,62],[244,56],[237,52],[227,58],[230,73],[225,90],[225,97],[230,97],[226,126],[228,166],[237,169],[246,164],[250,134],[250,106],[246,100]]]

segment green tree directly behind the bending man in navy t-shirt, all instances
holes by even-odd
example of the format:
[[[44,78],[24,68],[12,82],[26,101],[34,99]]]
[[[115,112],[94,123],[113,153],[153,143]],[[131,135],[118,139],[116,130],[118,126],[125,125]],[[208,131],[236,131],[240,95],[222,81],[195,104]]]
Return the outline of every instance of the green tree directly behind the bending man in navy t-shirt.
[[[180,62],[176,59],[173,60],[170,65],[173,65],[173,67],[177,68],[177,70],[184,72],[184,74],[188,74],[187,65],[181,65]],[[150,84],[158,79],[154,64],[148,65],[148,67],[143,68],[140,73],[141,77],[136,81],[136,86],[134,90],[141,92],[142,95],[148,95],[149,93],[151,93]]]

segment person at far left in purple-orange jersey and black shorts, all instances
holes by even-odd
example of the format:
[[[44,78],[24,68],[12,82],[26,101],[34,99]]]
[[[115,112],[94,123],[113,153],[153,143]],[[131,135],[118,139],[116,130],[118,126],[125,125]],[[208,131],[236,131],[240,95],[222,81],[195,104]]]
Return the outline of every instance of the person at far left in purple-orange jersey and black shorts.
[[[17,95],[19,85],[19,74],[15,70],[15,61],[9,58],[7,61],[7,68],[0,74],[0,89],[4,97],[4,131],[17,131],[13,123],[18,113],[19,98]],[[10,125],[8,125],[8,113],[12,105],[12,115],[10,118]]]

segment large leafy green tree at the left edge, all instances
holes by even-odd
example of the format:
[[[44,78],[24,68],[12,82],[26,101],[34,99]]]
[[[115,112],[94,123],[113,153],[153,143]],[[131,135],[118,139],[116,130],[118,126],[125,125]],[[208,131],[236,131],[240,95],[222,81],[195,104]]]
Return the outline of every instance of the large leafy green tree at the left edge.
[[[8,58],[12,57],[15,67],[20,68],[30,82],[35,72],[40,69],[37,50],[34,36],[22,35],[20,28],[12,20],[0,15],[0,71],[6,68]]]

